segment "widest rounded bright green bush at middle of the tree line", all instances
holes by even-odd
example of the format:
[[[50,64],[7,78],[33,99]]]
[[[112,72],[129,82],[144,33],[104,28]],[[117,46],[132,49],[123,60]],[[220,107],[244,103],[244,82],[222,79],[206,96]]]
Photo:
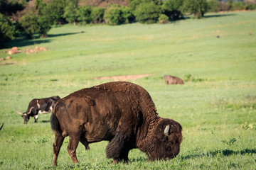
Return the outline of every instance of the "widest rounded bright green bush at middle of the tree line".
[[[139,23],[156,23],[160,14],[161,6],[154,4],[152,1],[142,2],[134,11],[134,16]]]

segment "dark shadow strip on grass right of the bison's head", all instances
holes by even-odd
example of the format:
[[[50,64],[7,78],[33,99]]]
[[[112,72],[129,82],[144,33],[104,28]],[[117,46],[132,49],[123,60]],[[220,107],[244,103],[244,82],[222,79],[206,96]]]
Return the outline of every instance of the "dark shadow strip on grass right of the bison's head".
[[[256,154],[256,149],[243,149],[240,151],[233,151],[230,149],[223,149],[223,150],[215,150],[207,152],[206,154],[191,154],[186,156],[181,156],[181,159],[191,159],[191,158],[197,158],[197,157],[215,157],[218,154],[223,155],[224,157],[228,157],[232,154]]]

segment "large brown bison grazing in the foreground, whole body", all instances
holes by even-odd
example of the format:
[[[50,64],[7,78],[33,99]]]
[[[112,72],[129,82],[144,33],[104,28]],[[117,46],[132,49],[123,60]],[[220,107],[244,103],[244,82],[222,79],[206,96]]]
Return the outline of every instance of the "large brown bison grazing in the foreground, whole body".
[[[55,132],[53,165],[69,136],[68,153],[78,163],[78,143],[110,141],[107,158],[113,164],[128,161],[130,149],[139,148],[150,160],[172,159],[179,153],[181,125],[160,118],[149,93],[127,81],[115,81],[75,91],[60,99],[50,123]]]

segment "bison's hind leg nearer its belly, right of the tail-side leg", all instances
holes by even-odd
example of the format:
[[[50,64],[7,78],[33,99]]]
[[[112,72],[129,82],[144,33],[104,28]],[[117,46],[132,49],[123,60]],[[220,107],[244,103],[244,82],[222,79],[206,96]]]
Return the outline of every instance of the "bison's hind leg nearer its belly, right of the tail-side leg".
[[[78,142],[80,140],[80,135],[70,136],[70,141],[68,142],[68,153],[73,161],[73,163],[78,163],[78,159],[76,157],[75,151],[78,147]]]

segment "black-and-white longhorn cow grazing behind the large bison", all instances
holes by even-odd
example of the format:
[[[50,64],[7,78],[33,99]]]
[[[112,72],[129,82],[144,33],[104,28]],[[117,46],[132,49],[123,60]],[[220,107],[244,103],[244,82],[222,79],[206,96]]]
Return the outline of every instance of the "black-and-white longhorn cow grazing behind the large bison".
[[[50,113],[53,110],[53,106],[56,101],[60,100],[59,96],[53,96],[50,98],[34,98],[29,104],[26,112],[21,113],[16,111],[24,119],[24,124],[28,123],[30,117],[35,118],[35,123],[38,121],[38,113]]]

